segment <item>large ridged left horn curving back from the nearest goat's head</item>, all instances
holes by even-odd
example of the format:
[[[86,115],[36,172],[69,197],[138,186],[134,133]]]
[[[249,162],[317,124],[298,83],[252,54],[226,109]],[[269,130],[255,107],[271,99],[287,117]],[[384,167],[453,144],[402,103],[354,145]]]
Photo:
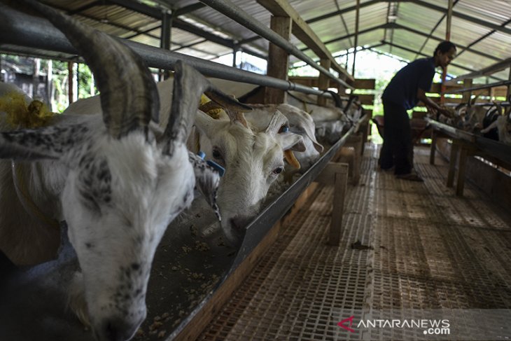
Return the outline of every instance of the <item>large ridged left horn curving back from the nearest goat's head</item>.
[[[83,56],[101,92],[103,121],[112,137],[119,139],[132,130],[148,131],[158,122],[160,102],[153,77],[141,58],[124,43],[83,25],[33,0],[25,0],[48,18]]]

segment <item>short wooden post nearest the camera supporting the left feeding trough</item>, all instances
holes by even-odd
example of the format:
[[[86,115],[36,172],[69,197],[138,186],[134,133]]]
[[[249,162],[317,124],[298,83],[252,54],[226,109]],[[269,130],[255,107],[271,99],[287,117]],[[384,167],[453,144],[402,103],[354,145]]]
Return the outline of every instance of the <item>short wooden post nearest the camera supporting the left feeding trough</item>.
[[[332,218],[328,231],[328,244],[338,246],[342,236],[342,214],[344,212],[344,197],[348,187],[348,164],[328,162],[323,172],[314,180],[327,186],[335,186],[332,202]]]

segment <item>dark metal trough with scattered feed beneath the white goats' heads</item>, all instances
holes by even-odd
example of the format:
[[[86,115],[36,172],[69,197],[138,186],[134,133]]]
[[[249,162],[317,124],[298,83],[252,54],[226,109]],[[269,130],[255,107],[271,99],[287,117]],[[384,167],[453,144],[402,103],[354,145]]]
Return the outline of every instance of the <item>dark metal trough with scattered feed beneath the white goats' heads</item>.
[[[300,179],[269,202],[248,225],[237,247],[223,242],[220,224],[202,199],[176,218],[155,253],[146,297],[148,316],[134,340],[172,340],[179,335],[356,129],[346,132]],[[67,288],[78,262],[63,230],[64,246],[57,260],[25,270],[2,267],[0,340],[94,340],[66,307]]]

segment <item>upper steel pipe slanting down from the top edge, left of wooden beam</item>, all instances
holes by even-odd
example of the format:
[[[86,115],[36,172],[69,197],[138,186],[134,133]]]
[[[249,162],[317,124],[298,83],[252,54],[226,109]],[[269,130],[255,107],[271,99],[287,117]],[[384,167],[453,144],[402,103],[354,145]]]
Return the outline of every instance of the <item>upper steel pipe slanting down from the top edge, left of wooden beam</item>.
[[[259,34],[263,38],[274,43],[276,46],[279,46],[279,48],[285,50],[287,53],[290,53],[291,55],[294,55],[300,60],[306,62],[311,67],[314,67],[314,69],[321,72],[321,74],[328,76],[336,83],[339,83],[345,88],[349,88],[351,90],[354,89],[351,85],[349,85],[342,79],[337,78],[333,74],[330,74],[330,71],[321,67],[321,65],[316,64],[311,57],[307,56],[302,51],[298,50],[296,46],[293,46],[292,43],[290,43],[286,39],[283,39],[282,36],[276,34],[276,32],[272,31],[272,29],[269,29],[265,25],[262,25],[260,22],[258,22],[258,20],[255,20],[253,17],[251,17],[251,15],[248,15],[248,13],[243,11],[235,4],[232,4],[232,2],[230,2],[229,0],[200,0],[200,1],[203,4],[207,4],[207,6],[216,9],[216,11],[223,13],[224,15],[227,15],[229,18],[235,20],[244,27],[251,29],[253,32]]]

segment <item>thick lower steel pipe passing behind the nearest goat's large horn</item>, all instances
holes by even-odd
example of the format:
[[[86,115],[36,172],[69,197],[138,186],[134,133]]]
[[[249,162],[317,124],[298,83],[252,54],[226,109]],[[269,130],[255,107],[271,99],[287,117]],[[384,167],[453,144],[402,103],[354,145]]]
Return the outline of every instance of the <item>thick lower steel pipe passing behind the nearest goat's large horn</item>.
[[[71,43],[69,43],[64,34],[51,25],[48,20],[15,11],[4,4],[0,4],[0,12],[2,13],[2,20],[0,20],[0,50],[2,44],[10,44],[78,55],[76,49],[71,46]],[[116,39],[118,38],[116,37]],[[264,85],[281,90],[296,90],[311,95],[332,98],[332,94],[329,92],[323,92],[301,84],[254,74],[249,71],[235,69],[223,64],[155,48],[134,41],[123,41],[144,59],[148,67],[174,69],[176,61],[183,60],[195,67],[204,76]]]

